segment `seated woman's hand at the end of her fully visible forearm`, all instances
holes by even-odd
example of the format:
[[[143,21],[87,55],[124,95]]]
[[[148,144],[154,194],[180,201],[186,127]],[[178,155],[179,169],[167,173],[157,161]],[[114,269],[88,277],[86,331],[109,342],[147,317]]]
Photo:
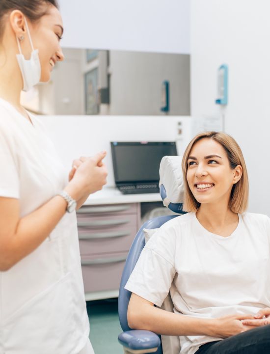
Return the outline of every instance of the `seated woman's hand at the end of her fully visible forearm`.
[[[253,315],[228,315],[217,318],[215,324],[215,337],[228,338],[232,335],[252,329],[254,325],[245,325],[243,321],[254,319]]]

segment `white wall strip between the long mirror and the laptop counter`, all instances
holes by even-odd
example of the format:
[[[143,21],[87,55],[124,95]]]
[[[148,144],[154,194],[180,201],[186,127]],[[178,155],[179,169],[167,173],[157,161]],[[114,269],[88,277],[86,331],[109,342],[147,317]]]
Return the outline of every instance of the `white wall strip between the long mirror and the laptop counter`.
[[[107,150],[108,185],[114,186],[110,141],[177,141],[178,154],[183,154],[190,140],[189,116],[40,116],[48,129],[67,172],[80,156],[93,156]],[[182,136],[177,136],[177,123],[182,123]]]

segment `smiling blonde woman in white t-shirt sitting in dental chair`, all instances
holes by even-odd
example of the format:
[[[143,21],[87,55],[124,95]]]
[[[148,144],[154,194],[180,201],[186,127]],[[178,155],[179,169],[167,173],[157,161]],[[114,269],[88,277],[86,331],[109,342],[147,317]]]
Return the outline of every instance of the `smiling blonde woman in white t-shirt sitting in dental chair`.
[[[182,170],[190,213],[141,252],[125,286],[129,326],[180,336],[181,354],[269,354],[270,218],[245,212],[242,151],[227,134],[201,133]],[[169,292],[173,313],[158,308]]]

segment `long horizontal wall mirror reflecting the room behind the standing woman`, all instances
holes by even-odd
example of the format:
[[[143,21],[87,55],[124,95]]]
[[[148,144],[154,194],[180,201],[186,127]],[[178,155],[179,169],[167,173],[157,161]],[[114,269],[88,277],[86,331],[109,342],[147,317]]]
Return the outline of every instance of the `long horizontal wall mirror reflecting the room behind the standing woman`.
[[[189,115],[189,55],[63,49],[50,82],[22,92],[37,114]]]

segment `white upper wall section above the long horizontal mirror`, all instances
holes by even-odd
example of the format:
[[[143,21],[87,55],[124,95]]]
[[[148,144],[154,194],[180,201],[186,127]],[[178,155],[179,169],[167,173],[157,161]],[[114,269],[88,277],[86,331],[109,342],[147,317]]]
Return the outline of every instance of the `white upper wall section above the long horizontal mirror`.
[[[59,0],[69,48],[189,54],[189,0]]]

